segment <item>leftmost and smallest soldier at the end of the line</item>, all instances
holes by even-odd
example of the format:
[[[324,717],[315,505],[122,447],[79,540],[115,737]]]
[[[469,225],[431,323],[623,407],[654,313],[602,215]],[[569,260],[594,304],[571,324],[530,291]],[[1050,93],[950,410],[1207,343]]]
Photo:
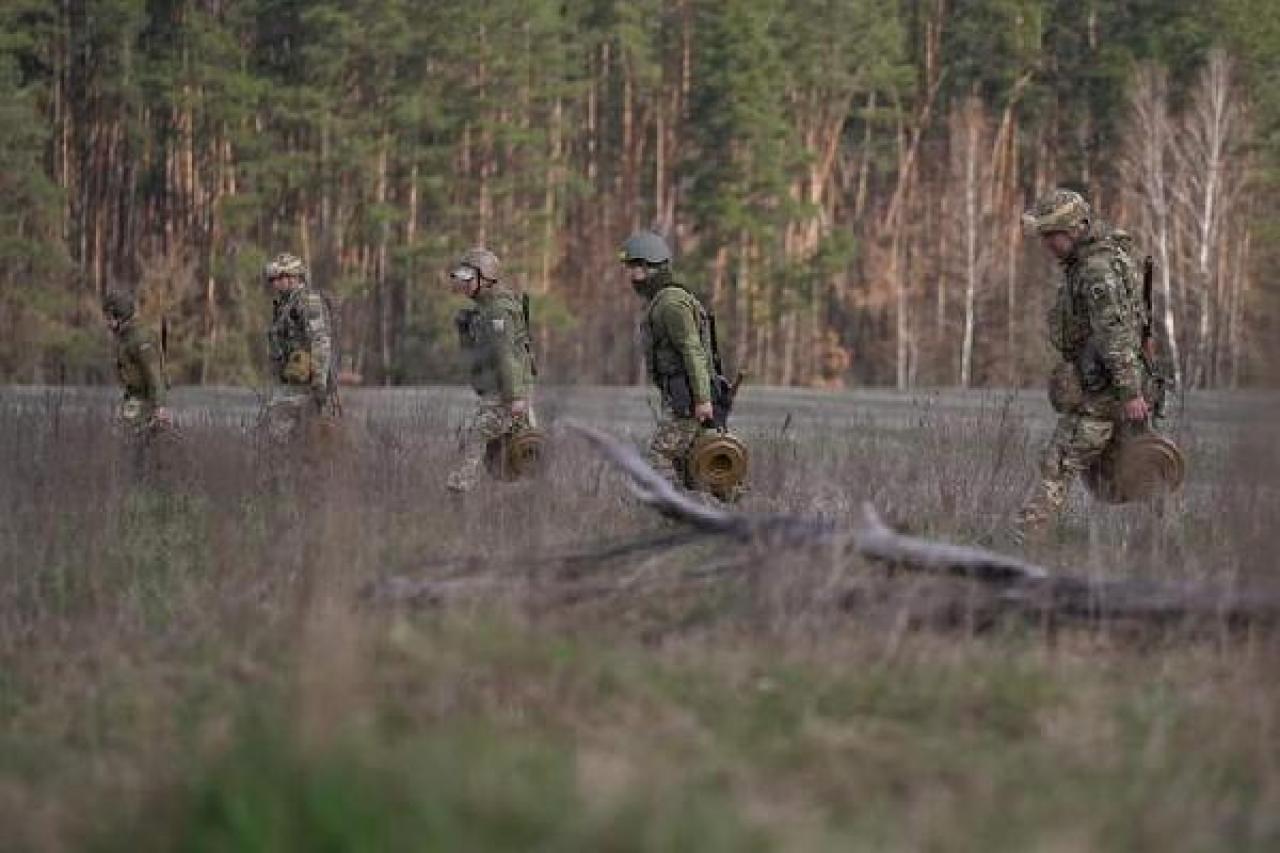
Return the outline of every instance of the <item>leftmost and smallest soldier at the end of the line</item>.
[[[173,420],[165,407],[164,351],[155,333],[138,323],[136,309],[127,291],[102,295],[102,314],[115,336],[115,373],[124,389],[119,416],[136,434],[146,435],[172,426]]]

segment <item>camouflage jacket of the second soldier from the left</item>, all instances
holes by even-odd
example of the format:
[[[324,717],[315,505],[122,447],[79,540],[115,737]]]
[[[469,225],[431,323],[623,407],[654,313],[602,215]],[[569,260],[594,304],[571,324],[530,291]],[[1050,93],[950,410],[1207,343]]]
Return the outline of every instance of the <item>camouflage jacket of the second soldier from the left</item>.
[[[271,301],[266,332],[275,377],[287,386],[329,387],[333,368],[333,327],[324,296],[298,287]]]

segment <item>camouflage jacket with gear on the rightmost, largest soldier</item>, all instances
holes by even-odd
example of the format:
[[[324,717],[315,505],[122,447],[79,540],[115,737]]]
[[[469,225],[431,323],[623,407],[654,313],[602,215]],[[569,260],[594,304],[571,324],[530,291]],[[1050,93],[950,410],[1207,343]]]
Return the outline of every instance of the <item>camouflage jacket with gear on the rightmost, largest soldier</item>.
[[[1050,342],[1076,365],[1084,391],[1116,401],[1144,386],[1146,307],[1132,251],[1124,232],[1084,237],[1062,261],[1064,280],[1048,313]]]

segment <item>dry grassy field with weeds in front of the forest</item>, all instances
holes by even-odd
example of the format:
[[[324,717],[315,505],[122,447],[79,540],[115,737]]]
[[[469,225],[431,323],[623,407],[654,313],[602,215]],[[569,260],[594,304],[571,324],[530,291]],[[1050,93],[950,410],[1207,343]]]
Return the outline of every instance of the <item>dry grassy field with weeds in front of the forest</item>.
[[[1048,423],[1009,394],[751,401],[744,508],[870,500],[961,542],[1014,512]],[[251,397],[179,402],[184,442],[140,464],[102,394],[0,394],[5,849],[1280,845],[1271,633],[978,620],[961,583],[823,549],[609,556],[675,528],[559,433],[541,479],[444,492],[456,392],[353,396],[306,471],[242,428]],[[1028,556],[1270,580],[1267,406],[1190,401],[1180,500],[1076,494]],[[392,578],[452,592],[369,594]]]

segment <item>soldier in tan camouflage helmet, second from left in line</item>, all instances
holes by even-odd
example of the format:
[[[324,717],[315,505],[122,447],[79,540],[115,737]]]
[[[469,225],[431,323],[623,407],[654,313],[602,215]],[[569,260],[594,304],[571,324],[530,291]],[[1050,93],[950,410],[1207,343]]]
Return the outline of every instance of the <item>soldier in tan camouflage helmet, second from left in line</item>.
[[[324,296],[311,287],[301,257],[283,252],[262,269],[270,284],[271,325],[266,338],[279,383],[266,407],[266,428],[275,441],[288,441],[312,414],[333,411],[333,323]]]

